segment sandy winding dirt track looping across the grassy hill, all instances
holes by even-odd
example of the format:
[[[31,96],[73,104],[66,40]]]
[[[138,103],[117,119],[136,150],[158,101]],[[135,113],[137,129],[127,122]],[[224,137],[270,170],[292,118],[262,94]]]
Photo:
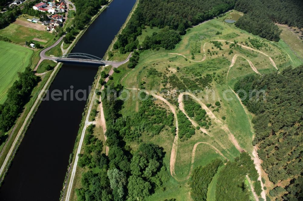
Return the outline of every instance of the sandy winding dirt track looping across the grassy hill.
[[[216,41],[225,42],[225,41],[227,41],[227,40],[216,40]],[[229,42],[229,43],[233,43],[233,42],[231,42],[231,41],[228,41],[228,42]],[[202,60],[200,60],[200,61],[194,61],[194,60],[191,60],[191,59],[189,59],[189,60],[192,61],[192,62],[203,62],[203,61],[206,59],[206,54],[205,54],[205,45],[206,45],[206,44],[207,44],[207,43],[204,43],[204,45],[203,45],[203,54],[204,54],[204,56],[203,56],[203,59],[202,59]],[[256,51],[256,52],[258,52],[258,53],[261,53],[261,54],[267,56],[268,59],[270,60],[271,64],[275,67],[275,69],[278,70],[278,68],[277,68],[275,62],[273,61],[273,59],[272,59],[270,56],[268,56],[267,54],[265,54],[265,53],[263,53],[263,52],[261,52],[261,51],[259,51],[259,50],[253,49],[253,48],[251,48],[251,47],[248,47],[248,46],[244,46],[244,45],[241,45],[241,44],[240,44],[240,46],[241,46],[241,47],[244,47],[244,48],[246,48],[246,49],[250,49],[250,50]],[[185,55],[182,55],[182,54],[179,54],[179,53],[168,53],[168,54],[179,55],[179,56],[183,56],[183,57],[186,58]],[[230,65],[229,68],[228,68],[228,72],[227,72],[227,75],[226,75],[226,80],[228,79],[229,70],[231,69],[231,67],[233,67],[233,66],[235,65],[235,62],[236,62],[236,59],[237,59],[238,56],[241,56],[241,57],[243,57],[244,59],[246,59],[247,62],[249,63],[249,65],[250,65],[251,69],[252,69],[255,73],[260,74],[260,72],[258,72],[258,70],[255,68],[255,66],[253,65],[253,63],[252,63],[249,59],[245,58],[244,56],[242,56],[242,55],[240,55],[240,54],[235,54],[235,55],[233,56],[232,60],[231,60],[231,65]],[[127,74],[127,75],[128,75],[128,74]],[[125,75],[125,77],[126,77],[126,75]],[[125,77],[123,77],[123,78],[125,78]],[[122,79],[123,79],[123,78],[122,78]],[[230,86],[228,86],[228,87],[231,89],[231,91],[233,91],[233,93],[236,95],[236,97],[237,97],[238,100],[240,101],[240,104],[241,104],[241,106],[243,107],[243,109],[245,110],[246,115],[249,116],[249,112],[248,112],[247,108],[242,104],[242,101],[240,100],[240,97],[238,96],[238,94],[236,94],[235,91],[232,90],[232,88],[231,88]],[[138,88],[128,88],[128,89],[140,90],[140,89],[138,89]],[[144,91],[145,91],[145,90],[144,90]],[[168,107],[170,108],[170,110],[172,111],[172,113],[173,113],[174,116],[175,116],[176,135],[175,135],[175,139],[174,139],[174,142],[173,142],[173,145],[172,145],[172,148],[171,148],[171,157],[170,157],[170,173],[171,173],[171,176],[175,178],[175,180],[177,180],[177,181],[184,181],[184,180],[187,180],[187,179],[190,177],[191,171],[192,171],[192,169],[193,169],[193,164],[194,164],[194,161],[195,161],[195,152],[196,152],[196,148],[197,148],[197,146],[198,146],[199,144],[202,144],[202,143],[203,143],[203,144],[209,145],[211,148],[213,148],[213,149],[215,150],[216,153],[220,154],[220,155],[223,156],[225,159],[227,159],[227,158],[220,152],[220,150],[218,150],[215,146],[213,146],[213,145],[211,145],[211,144],[209,144],[209,143],[207,143],[207,142],[197,142],[197,143],[194,145],[193,150],[192,150],[192,153],[191,153],[191,167],[190,167],[190,171],[189,171],[188,176],[185,177],[184,179],[178,179],[178,178],[177,178],[177,175],[175,174],[175,162],[176,162],[176,155],[177,155],[177,151],[178,151],[178,119],[177,119],[177,114],[176,114],[176,111],[175,111],[175,107],[172,106],[165,98],[163,98],[163,97],[161,97],[161,96],[159,96],[159,95],[153,94],[153,93],[148,93],[148,91],[145,91],[145,92],[146,92],[147,94],[150,94],[150,95],[152,95],[153,97],[155,97],[155,98],[157,98],[157,99],[163,101],[165,104],[167,104]],[[228,129],[228,126],[227,126],[226,124],[223,124],[222,120],[218,119],[218,118],[211,112],[211,110],[209,110],[208,107],[206,107],[206,105],[205,105],[204,103],[202,103],[195,95],[193,95],[193,94],[191,94],[191,93],[188,93],[188,92],[184,92],[184,93],[181,93],[181,94],[179,95],[179,97],[178,97],[179,109],[186,115],[186,117],[188,118],[188,120],[191,121],[191,123],[192,123],[193,126],[196,127],[196,126],[198,126],[198,124],[197,124],[195,121],[193,121],[193,120],[186,114],[186,112],[185,112],[185,110],[184,110],[183,95],[190,95],[191,97],[193,97],[193,99],[194,99],[195,101],[197,101],[197,102],[201,105],[201,107],[206,111],[206,113],[208,114],[208,116],[209,116],[212,120],[214,120],[216,123],[218,123],[219,125],[221,125],[221,129],[223,129],[223,130],[228,134],[228,139],[233,143],[233,145],[235,145],[235,147],[238,149],[238,151],[239,151],[239,152],[245,152],[245,150],[241,148],[241,146],[239,145],[238,141],[235,139],[235,136],[234,136],[234,135],[230,132],[230,130]],[[251,124],[251,122],[249,122],[249,123],[250,123],[251,130],[253,131],[252,124]],[[201,130],[202,132],[205,132],[205,133],[208,134],[209,136],[211,136],[205,129],[201,129],[201,128],[200,128],[200,130]],[[223,146],[221,143],[218,142],[218,144],[219,144],[222,148],[224,148],[224,146]],[[257,153],[257,147],[256,147],[256,146],[254,147],[254,150],[253,150],[252,154],[253,154],[252,159],[253,159],[253,161],[254,161],[255,168],[256,168],[256,170],[258,171],[258,175],[259,175],[258,180],[261,181],[261,160],[258,158],[258,153]],[[250,185],[251,185],[251,182],[250,182]],[[251,187],[252,187],[252,185],[251,185]],[[262,182],[261,182],[261,189],[262,189],[261,197],[262,197],[264,200],[266,200],[266,194],[265,194],[265,191],[264,191],[264,184],[263,184]],[[258,200],[253,188],[252,188],[252,191],[253,191],[253,194],[254,194],[255,199]]]

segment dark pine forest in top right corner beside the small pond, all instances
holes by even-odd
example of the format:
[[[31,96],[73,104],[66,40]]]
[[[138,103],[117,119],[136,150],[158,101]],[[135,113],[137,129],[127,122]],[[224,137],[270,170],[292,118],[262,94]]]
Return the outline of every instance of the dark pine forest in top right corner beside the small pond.
[[[254,35],[279,41],[281,31],[274,22],[303,27],[303,2],[297,0],[237,0],[237,11],[244,12],[235,25]]]

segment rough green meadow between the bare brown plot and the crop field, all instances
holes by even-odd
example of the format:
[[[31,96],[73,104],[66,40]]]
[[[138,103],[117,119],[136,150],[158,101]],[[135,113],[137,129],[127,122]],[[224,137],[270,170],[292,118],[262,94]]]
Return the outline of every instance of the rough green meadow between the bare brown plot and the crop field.
[[[39,31],[28,27],[23,27],[18,24],[10,24],[4,29],[1,29],[0,35],[8,37],[13,43],[21,45],[24,45],[25,41],[30,41],[33,38],[47,40],[48,43],[51,43],[52,40],[55,38],[55,35],[47,31]],[[46,43],[46,45],[48,45],[48,43]],[[41,44],[44,45],[43,43]]]

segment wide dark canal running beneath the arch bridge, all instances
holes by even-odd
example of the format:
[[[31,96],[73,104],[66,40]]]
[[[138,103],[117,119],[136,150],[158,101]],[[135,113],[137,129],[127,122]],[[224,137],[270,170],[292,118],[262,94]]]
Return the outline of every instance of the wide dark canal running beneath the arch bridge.
[[[114,0],[83,34],[73,53],[102,58],[136,0]],[[58,200],[98,67],[64,64],[50,94],[69,90],[61,100],[42,101],[0,188],[0,200]],[[76,91],[82,100],[76,100]],[[71,92],[72,91],[72,92]]]

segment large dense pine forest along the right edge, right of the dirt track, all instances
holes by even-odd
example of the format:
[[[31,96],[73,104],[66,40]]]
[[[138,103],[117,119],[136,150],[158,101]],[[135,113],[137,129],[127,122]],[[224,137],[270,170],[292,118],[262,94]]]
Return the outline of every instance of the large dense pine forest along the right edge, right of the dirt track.
[[[290,180],[285,187],[285,200],[302,200],[303,154],[303,65],[291,67],[281,73],[249,75],[235,84],[235,91],[243,89],[265,90],[257,98],[247,97],[243,102],[256,116],[253,118],[256,132],[253,145],[258,145],[261,164],[271,182],[278,184]],[[244,97],[243,93],[239,93]],[[300,190],[301,189],[301,190]],[[277,195],[277,194],[275,194]]]

